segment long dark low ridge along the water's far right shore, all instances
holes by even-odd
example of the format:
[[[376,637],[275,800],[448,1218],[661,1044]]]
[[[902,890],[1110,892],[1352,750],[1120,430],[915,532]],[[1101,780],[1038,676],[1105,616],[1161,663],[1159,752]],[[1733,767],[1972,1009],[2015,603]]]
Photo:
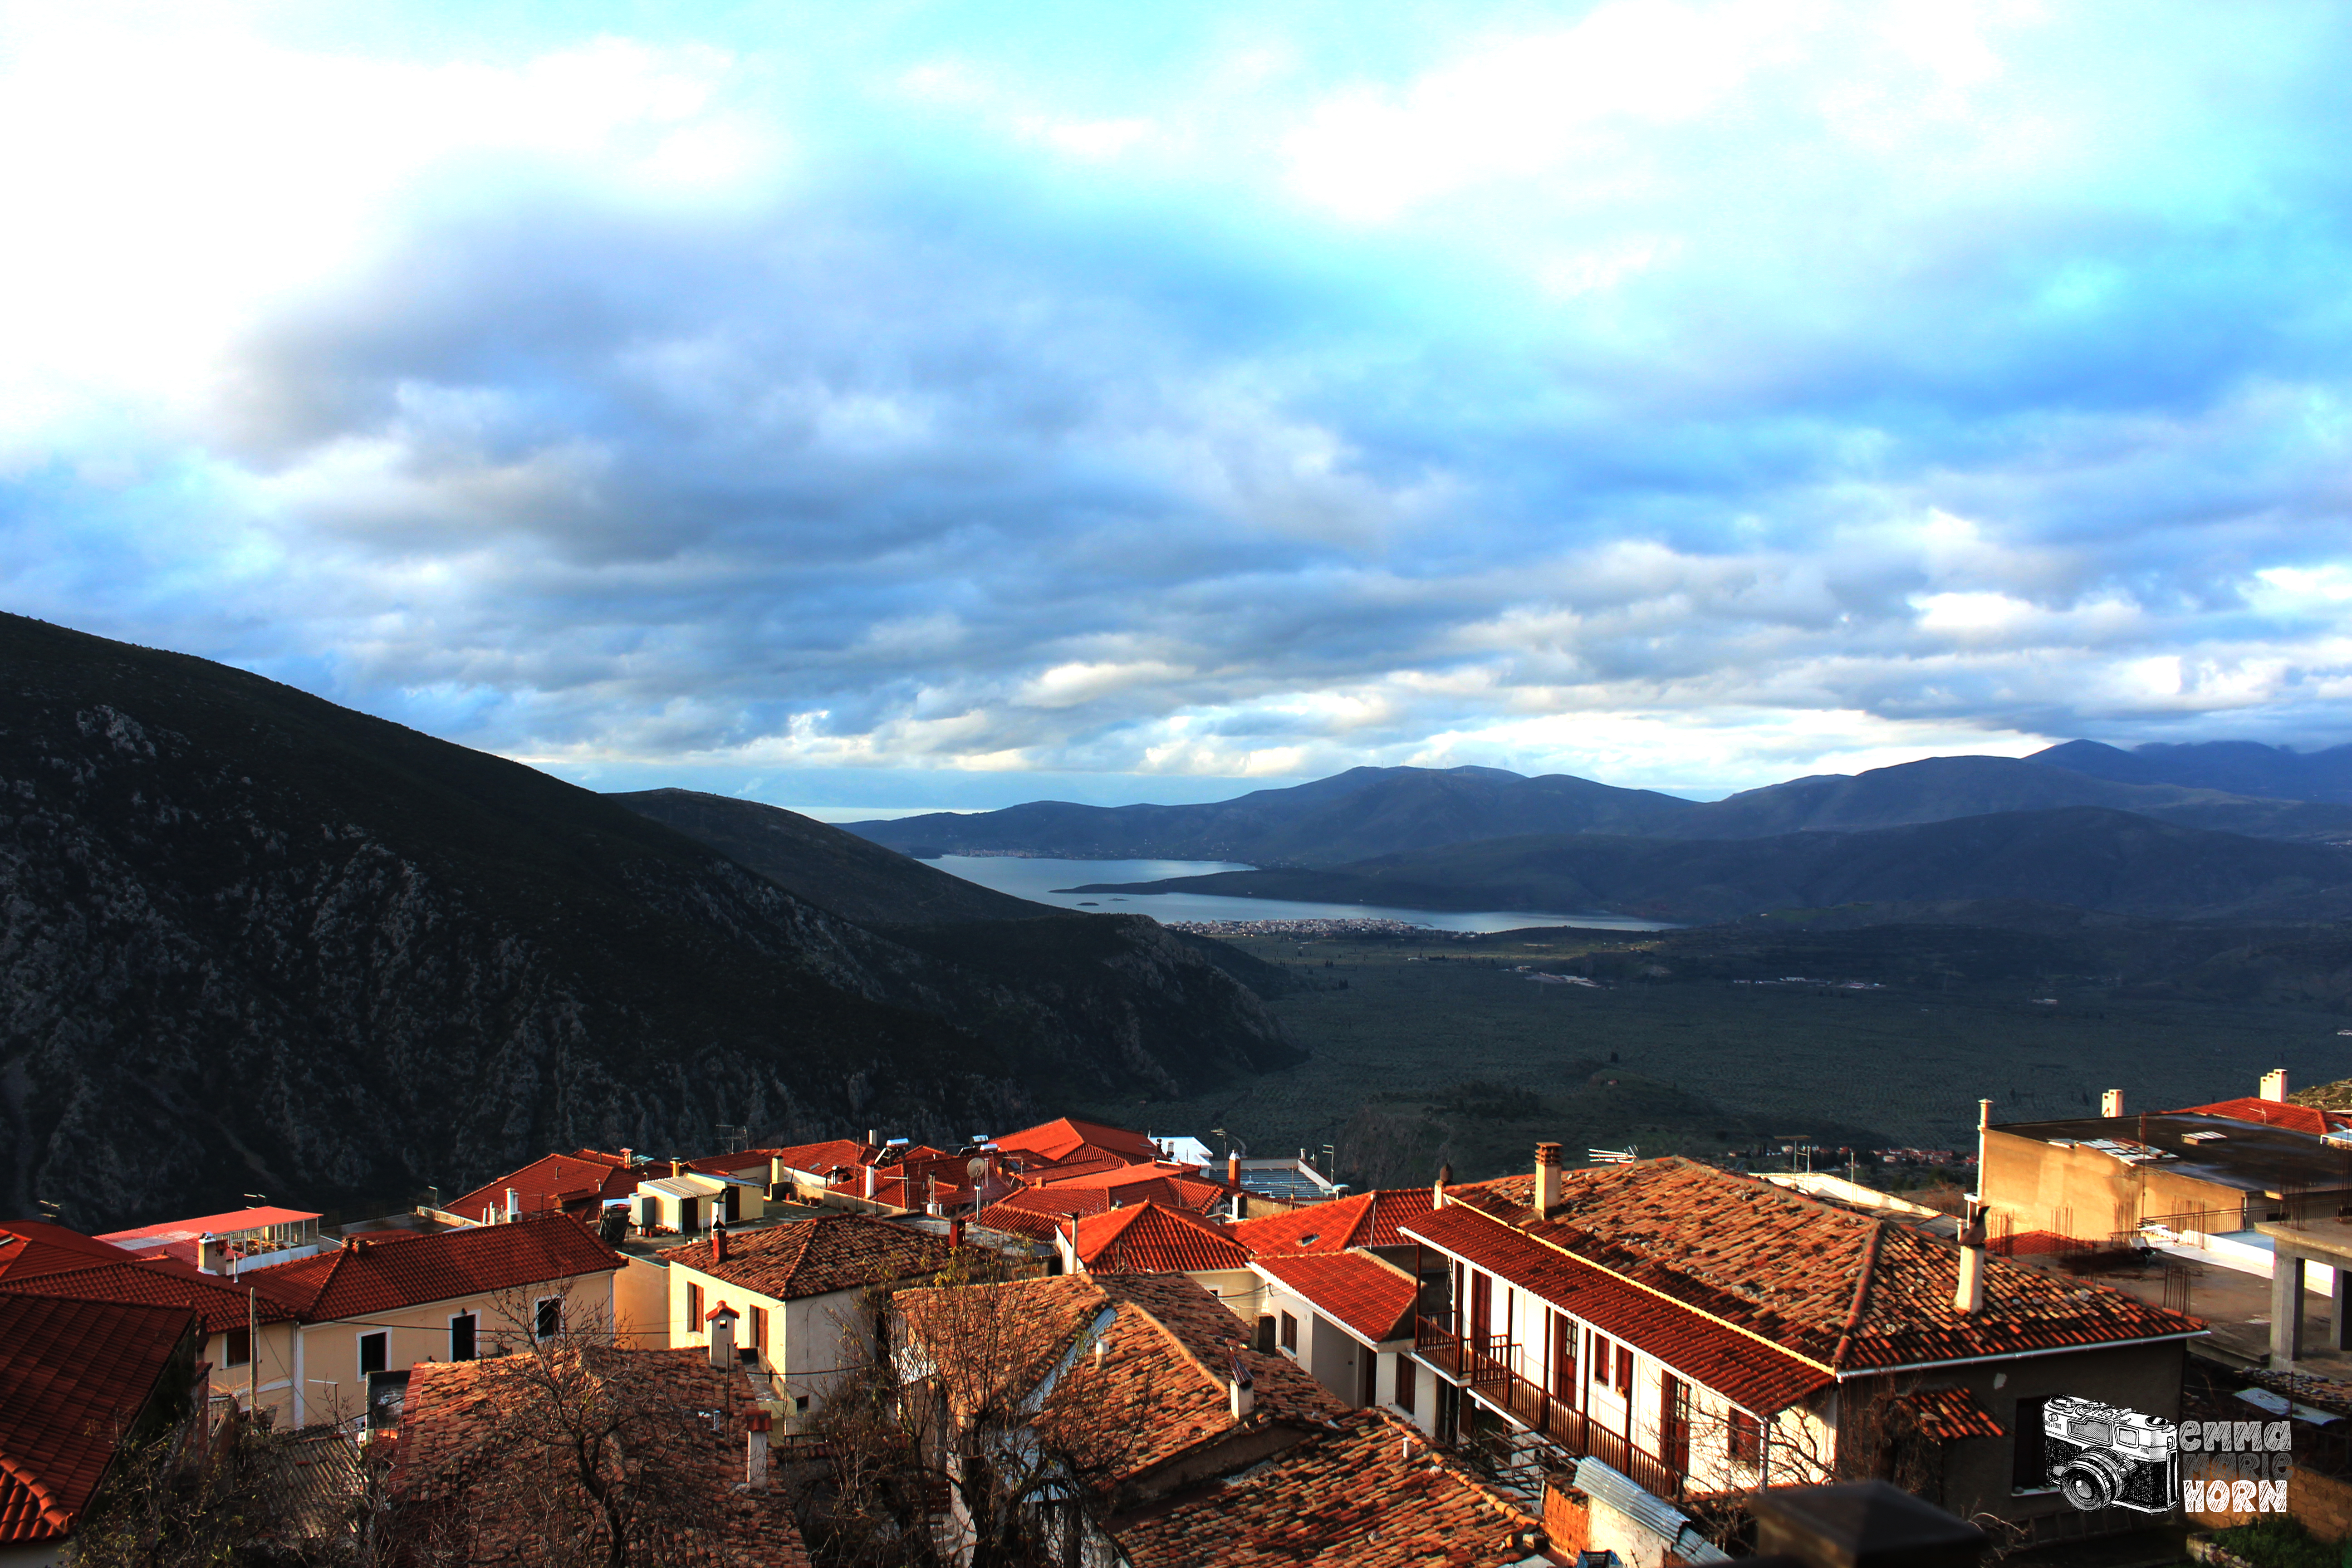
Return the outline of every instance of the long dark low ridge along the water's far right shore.
[[[2343,919],[2352,914],[2352,851],[2065,806],[1759,839],[1550,835],[1378,856],[1331,870],[1223,872],[1080,891],[1418,910],[1592,910],[1670,922],[1938,900],[2027,900],[2157,919]]]

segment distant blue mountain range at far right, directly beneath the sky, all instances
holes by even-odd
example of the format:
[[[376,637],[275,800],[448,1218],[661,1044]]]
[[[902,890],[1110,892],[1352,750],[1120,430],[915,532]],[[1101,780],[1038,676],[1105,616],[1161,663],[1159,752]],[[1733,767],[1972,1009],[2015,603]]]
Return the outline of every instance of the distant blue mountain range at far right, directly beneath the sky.
[[[1926,757],[1867,773],[1818,773],[1693,806],[1665,825],[1686,839],[1856,832],[1994,811],[2107,806],[2263,839],[2352,842],[2352,806],[2249,799],[2166,783],[2117,783],[2016,757]]]

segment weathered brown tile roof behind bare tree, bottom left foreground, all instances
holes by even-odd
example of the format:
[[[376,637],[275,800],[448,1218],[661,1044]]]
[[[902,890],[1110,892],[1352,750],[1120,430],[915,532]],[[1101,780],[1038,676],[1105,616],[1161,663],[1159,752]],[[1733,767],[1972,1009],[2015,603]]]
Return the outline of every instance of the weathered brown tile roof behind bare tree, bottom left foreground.
[[[696,1568],[807,1568],[809,1554],[793,1523],[790,1493],[741,1493],[746,1418],[757,1410],[743,1375],[710,1366],[699,1349],[557,1349],[536,1356],[423,1363],[409,1373],[390,1493],[419,1535],[461,1549],[473,1563],[541,1561],[546,1516],[510,1507],[508,1469],[546,1469],[534,1443],[515,1434],[532,1427],[532,1408],[546,1389],[593,1396],[635,1455],[635,1465],[659,1476],[663,1488],[691,1488],[687,1509],[670,1528],[647,1528],[637,1540],[642,1559]],[[689,1413],[724,1410],[722,1432]],[[562,1467],[548,1472],[564,1486]],[[534,1502],[581,1521],[590,1556],[604,1554],[602,1514],[583,1495],[548,1495],[532,1486]],[[656,1512],[659,1519],[659,1512]],[[430,1521],[430,1523],[426,1523]],[[433,1528],[437,1526],[437,1528]]]

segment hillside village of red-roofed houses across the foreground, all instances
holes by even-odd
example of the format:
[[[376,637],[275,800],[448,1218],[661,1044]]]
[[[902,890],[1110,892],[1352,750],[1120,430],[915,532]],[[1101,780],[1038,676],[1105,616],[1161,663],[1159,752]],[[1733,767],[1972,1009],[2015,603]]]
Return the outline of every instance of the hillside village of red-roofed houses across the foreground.
[[[2352,1114],[2284,1074],[2100,1110],[1983,1126],[1959,1218],[1552,1143],[1348,1192],[1065,1117],[550,1152],[332,1232],[14,1220],[0,1561],[115,1561],[158,1465],[245,1476],[278,1561],[2072,1561],[2180,1505],[2343,1535]],[[2286,1418],[2293,1481],[2053,1479],[2082,1408]]]

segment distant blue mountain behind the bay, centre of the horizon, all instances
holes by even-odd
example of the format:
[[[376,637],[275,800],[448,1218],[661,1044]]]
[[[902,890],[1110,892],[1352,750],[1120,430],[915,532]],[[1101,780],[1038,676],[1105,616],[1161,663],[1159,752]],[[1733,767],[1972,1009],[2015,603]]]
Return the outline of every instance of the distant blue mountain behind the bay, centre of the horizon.
[[[849,832],[908,853],[1023,853],[1073,860],[1247,860],[1338,865],[1364,856],[1526,832],[1658,832],[1691,802],[1503,769],[1350,769],[1287,790],[1207,806],[1075,806],[938,811]]]

